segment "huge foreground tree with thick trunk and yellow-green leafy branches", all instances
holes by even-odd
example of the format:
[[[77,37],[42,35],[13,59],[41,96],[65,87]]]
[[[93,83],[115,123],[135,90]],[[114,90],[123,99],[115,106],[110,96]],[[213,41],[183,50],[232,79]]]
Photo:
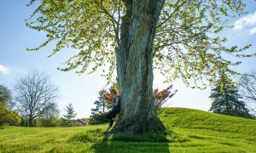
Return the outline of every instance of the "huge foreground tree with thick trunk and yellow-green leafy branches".
[[[48,39],[28,50],[56,42],[53,54],[66,47],[79,50],[62,71],[102,66],[108,80],[117,71],[121,117],[113,132],[165,131],[154,109],[153,69],[168,81],[194,79],[200,86],[214,82],[219,71],[236,73],[230,66],[239,63],[222,52],[243,57],[239,53],[249,47],[226,48],[226,38],[217,36],[229,17],[241,14],[241,0],[32,0],[28,5],[33,3],[38,8],[27,26],[46,32]]]

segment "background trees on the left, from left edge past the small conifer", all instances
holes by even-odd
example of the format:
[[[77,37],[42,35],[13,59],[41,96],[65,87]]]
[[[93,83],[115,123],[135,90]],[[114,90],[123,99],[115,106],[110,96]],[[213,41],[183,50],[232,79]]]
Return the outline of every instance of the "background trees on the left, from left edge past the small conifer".
[[[67,105],[67,115],[60,118],[58,89],[42,72],[34,70],[19,77],[14,91],[13,96],[9,88],[0,85],[0,127],[73,127],[85,123],[76,122],[72,104]]]

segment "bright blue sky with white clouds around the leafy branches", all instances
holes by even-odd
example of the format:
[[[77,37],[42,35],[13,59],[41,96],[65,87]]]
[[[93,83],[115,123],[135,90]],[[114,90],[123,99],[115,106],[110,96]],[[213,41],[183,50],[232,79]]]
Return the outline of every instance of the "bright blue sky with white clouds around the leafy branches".
[[[51,82],[60,90],[60,99],[57,104],[61,110],[61,115],[65,113],[64,108],[68,103],[72,103],[77,117],[90,116],[90,109],[94,107],[98,91],[105,85],[106,81],[96,72],[91,75],[78,76],[73,71],[57,71],[57,67],[63,67],[76,51],[64,49],[59,54],[51,58],[52,44],[38,52],[27,52],[26,48],[37,47],[44,42],[44,33],[32,31],[25,24],[25,19],[32,14],[34,8],[26,7],[29,1],[20,0],[0,0],[0,84],[4,84],[10,89],[13,88],[17,77],[25,75],[32,69],[44,71],[49,75]],[[245,1],[246,11],[240,17],[230,20],[234,24],[233,29],[224,30],[221,35],[228,37],[227,46],[237,45],[242,47],[246,44],[253,44],[248,49],[248,53],[256,52],[256,2]],[[228,57],[231,58],[231,57]],[[234,58],[231,58],[234,59]],[[236,68],[237,71],[255,70],[256,59],[244,59],[243,63]],[[154,75],[154,87],[165,88],[167,84],[161,83],[162,77]],[[177,94],[170,99],[171,106],[195,108],[208,111],[211,105],[210,89],[206,90],[186,88],[183,82],[173,82]]]

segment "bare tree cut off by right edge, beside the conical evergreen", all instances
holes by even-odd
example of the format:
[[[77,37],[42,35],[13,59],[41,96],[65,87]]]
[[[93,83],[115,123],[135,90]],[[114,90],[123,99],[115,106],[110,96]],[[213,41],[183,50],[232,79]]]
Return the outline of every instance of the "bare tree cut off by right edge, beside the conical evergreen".
[[[256,72],[252,76],[243,75],[240,78],[241,92],[247,100],[247,107],[256,114]]]

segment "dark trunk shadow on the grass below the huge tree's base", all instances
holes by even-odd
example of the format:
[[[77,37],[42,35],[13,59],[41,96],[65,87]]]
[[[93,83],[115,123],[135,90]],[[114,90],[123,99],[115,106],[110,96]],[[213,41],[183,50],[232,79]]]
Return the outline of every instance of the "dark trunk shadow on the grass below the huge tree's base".
[[[170,152],[168,143],[165,137],[152,134],[143,136],[113,134],[93,144],[91,149],[95,152]]]

